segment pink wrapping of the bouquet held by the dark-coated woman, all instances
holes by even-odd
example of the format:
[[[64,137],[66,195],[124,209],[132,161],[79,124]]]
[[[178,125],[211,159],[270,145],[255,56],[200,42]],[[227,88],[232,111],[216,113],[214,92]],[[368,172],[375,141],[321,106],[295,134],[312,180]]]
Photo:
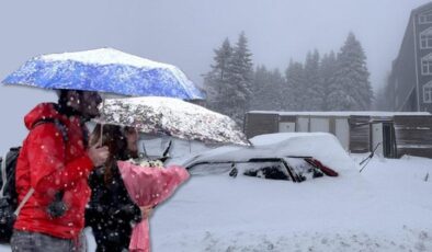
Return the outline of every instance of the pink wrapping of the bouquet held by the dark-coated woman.
[[[189,179],[184,168],[171,165],[166,169],[141,167],[129,161],[118,161],[118,169],[130,198],[140,207],[154,207],[166,201],[175,188]],[[150,251],[148,219],[134,227],[129,243],[130,251]]]

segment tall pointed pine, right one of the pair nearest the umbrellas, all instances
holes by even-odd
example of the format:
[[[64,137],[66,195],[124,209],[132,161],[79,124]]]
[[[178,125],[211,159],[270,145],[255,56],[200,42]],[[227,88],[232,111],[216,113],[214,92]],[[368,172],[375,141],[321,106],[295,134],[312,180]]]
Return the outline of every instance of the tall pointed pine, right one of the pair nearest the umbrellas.
[[[241,32],[228,62],[227,90],[223,90],[225,104],[223,113],[242,125],[245,113],[249,108],[252,88],[252,54],[248,48],[248,39]],[[226,91],[226,92],[224,92]]]

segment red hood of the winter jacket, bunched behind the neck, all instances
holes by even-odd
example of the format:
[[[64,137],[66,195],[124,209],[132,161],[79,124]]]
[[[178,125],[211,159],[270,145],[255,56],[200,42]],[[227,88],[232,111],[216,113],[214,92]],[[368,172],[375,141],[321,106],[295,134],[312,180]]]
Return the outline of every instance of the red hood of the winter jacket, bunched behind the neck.
[[[59,119],[62,116],[57,111],[57,105],[55,103],[41,103],[35,106],[29,114],[24,117],[25,127],[32,129],[34,124],[41,119]]]

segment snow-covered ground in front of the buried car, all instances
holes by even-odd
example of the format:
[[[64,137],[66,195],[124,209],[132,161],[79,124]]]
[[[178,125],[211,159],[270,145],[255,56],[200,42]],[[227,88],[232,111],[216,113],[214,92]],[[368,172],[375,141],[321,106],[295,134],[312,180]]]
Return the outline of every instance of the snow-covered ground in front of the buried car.
[[[152,251],[432,251],[431,176],[432,160],[416,157],[303,183],[192,176],[155,210]]]

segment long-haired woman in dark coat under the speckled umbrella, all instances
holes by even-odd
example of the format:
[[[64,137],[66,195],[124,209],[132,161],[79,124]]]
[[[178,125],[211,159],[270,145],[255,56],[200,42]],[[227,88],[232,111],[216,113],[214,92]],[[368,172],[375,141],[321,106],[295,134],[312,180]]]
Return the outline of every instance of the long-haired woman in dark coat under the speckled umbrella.
[[[91,135],[91,144],[100,141],[101,125]],[[93,230],[96,251],[127,251],[132,227],[141,220],[141,210],[130,199],[122,180],[117,160],[135,157],[127,148],[125,128],[104,125],[102,145],[107,146],[110,158],[105,165],[96,168],[89,177],[91,199],[86,209],[86,222]]]

